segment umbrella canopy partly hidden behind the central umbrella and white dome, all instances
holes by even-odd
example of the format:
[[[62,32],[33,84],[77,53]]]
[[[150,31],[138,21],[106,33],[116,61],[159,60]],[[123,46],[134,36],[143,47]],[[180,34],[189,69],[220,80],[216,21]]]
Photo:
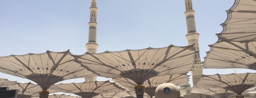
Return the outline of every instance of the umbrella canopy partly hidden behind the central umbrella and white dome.
[[[189,76],[186,73],[178,74],[178,75],[165,75],[165,76],[156,76],[150,79],[147,79],[142,86],[145,86],[145,93],[149,95],[149,97],[153,97],[155,95],[156,87],[162,83],[172,83],[176,86],[183,86],[188,83]],[[112,79],[119,86],[133,88],[137,86],[135,82],[127,78],[113,78]]]

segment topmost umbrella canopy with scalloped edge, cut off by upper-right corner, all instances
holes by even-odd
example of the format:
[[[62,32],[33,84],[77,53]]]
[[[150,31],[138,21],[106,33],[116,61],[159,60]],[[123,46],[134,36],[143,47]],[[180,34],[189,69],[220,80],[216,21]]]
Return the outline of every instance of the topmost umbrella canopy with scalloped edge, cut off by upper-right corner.
[[[236,42],[256,41],[256,1],[235,0],[227,10],[227,20],[222,23],[223,31],[219,40]]]

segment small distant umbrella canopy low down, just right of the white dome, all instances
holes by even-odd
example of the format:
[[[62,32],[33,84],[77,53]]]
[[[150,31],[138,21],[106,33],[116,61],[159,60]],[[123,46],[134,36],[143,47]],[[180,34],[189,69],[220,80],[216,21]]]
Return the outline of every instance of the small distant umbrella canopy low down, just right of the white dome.
[[[223,88],[198,88],[194,87],[191,93],[213,95],[218,98],[229,98],[235,93],[233,91],[225,90]]]

